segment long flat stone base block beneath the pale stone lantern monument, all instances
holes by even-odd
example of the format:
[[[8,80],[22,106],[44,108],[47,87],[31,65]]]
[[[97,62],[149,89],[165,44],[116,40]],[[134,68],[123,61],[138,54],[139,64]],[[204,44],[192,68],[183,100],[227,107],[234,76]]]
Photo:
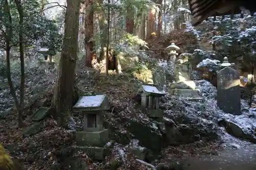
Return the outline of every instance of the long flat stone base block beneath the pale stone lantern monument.
[[[172,89],[168,91],[173,95],[183,96],[185,98],[199,98],[200,90],[193,89]]]

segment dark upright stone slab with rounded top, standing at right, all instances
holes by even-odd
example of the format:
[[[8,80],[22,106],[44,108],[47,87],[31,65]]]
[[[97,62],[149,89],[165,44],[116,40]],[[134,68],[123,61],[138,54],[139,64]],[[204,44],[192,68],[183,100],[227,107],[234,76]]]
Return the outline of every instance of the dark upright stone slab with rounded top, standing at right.
[[[226,113],[242,114],[239,72],[231,67],[225,67],[218,72],[217,79],[218,107]]]

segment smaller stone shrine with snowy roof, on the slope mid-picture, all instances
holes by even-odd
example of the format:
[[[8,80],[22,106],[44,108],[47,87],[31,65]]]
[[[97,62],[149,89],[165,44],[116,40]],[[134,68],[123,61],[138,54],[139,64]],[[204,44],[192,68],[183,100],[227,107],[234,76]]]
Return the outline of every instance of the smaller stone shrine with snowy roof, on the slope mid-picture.
[[[162,117],[163,112],[159,109],[159,104],[160,97],[165,93],[150,85],[142,85],[139,93],[141,94],[141,106],[150,109],[149,117]]]

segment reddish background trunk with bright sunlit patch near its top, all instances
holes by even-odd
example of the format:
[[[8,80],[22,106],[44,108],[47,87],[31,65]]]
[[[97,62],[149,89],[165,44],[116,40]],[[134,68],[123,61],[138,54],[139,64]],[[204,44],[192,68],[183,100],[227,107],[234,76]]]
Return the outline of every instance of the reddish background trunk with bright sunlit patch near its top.
[[[156,32],[156,7],[152,6],[147,17],[146,37],[150,38],[151,34],[154,32]]]

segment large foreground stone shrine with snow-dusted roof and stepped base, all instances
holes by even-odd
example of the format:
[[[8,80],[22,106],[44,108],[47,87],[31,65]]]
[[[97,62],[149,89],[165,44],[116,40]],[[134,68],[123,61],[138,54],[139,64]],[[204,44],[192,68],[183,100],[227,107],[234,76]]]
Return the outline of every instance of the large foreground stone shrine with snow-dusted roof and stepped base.
[[[73,107],[84,117],[83,131],[76,132],[78,150],[96,160],[104,159],[107,150],[104,145],[109,141],[109,130],[103,129],[103,111],[108,109],[106,95],[82,96]]]

